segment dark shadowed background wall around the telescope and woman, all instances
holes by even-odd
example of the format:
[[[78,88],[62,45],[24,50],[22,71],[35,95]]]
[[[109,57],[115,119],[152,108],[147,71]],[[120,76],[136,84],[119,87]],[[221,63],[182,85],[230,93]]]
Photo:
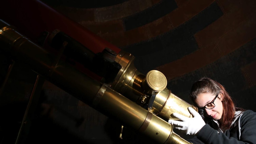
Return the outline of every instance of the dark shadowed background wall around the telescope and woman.
[[[143,74],[162,72],[167,88],[188,103],[193,105],[192,84],[208,76],[225,86],[238,107],[256,111],[255,0],[42,1],[134,55]],[[8,64],[1,54],[1,77]],[[15,69],[3,92],[7,103],[1,102],[2,115],[11,120],[24,114],[36,77],[24,67]],[[8,121],[10,129],[1,134],[12,133],[15,124]],[[114,119],[46,81],[26,143],[151,143],[127,128],[121,140],[120,130]]]

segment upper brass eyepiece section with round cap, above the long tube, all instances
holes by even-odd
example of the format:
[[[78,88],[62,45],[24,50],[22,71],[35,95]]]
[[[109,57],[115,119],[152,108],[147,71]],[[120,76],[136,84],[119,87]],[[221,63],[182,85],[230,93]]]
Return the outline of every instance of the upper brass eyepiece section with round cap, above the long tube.
[[[156,94],[153,97],[152,108],[151,104],[148,106],[154,114],[165,121],[168,121],[168,119],[178,120],[172,116],[172,113],[180,113],[187,117],[192,117],[188,107],[193,107],[198,111],[197,107],[185,102],[166,88],[167,80],[162,72],[151,70],[145,76],[134,67],[134,59],[134,56],[124,51],[118,54],[116,62],[122,65],[122,69],[111,86],[115,91],[134,102],[137,101],[139,105],[142,105],[140,103],[141,96],[145,96],[147,102],[149,102],[152,100],[151,96]]]

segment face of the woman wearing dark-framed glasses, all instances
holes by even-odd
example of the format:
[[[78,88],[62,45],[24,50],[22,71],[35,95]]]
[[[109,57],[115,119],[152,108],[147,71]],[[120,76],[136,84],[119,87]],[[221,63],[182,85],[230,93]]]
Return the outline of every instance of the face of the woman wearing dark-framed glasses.
[[[209,102],[212,102],[213,99],[215,98],[216,95],[206,93],[206,94],[199,94],[197,98],[195,99],[195,103],[197,104],[198,107],[204,107],[206,104]],[[218,94],[218,97],[214,101],[215,107],[212,109],[204,109],[205,110],[205,115],[207,117],[213,118],[215,120],[219,120],[222,122],[222,114],[223,114],[223,106],[222,106],[222,101],[223,100],[223,95]]]

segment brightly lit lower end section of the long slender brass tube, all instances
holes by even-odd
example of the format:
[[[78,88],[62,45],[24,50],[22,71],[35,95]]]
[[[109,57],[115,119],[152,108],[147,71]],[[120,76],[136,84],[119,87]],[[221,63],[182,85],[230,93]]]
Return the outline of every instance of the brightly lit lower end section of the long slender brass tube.
[[[96,109],[112,115],[126,126],[137,130],[148,138],[161,144],[188,143],[173,132],[173,125],[167,123],[150,111],[107,88],[100,98]]]

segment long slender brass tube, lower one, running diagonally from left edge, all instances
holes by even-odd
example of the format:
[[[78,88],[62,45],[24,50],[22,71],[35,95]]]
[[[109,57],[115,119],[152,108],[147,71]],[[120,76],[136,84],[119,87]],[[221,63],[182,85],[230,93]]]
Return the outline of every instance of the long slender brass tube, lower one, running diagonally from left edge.
[[[116,118],[124,126],[140,132],[156,143],[189,143],[173,132],[173,125],[69,64],[56,60],[4,21],[0,20],[0,26],[1,49],[15,61],[23,63],[72,96],[99,112]]]

